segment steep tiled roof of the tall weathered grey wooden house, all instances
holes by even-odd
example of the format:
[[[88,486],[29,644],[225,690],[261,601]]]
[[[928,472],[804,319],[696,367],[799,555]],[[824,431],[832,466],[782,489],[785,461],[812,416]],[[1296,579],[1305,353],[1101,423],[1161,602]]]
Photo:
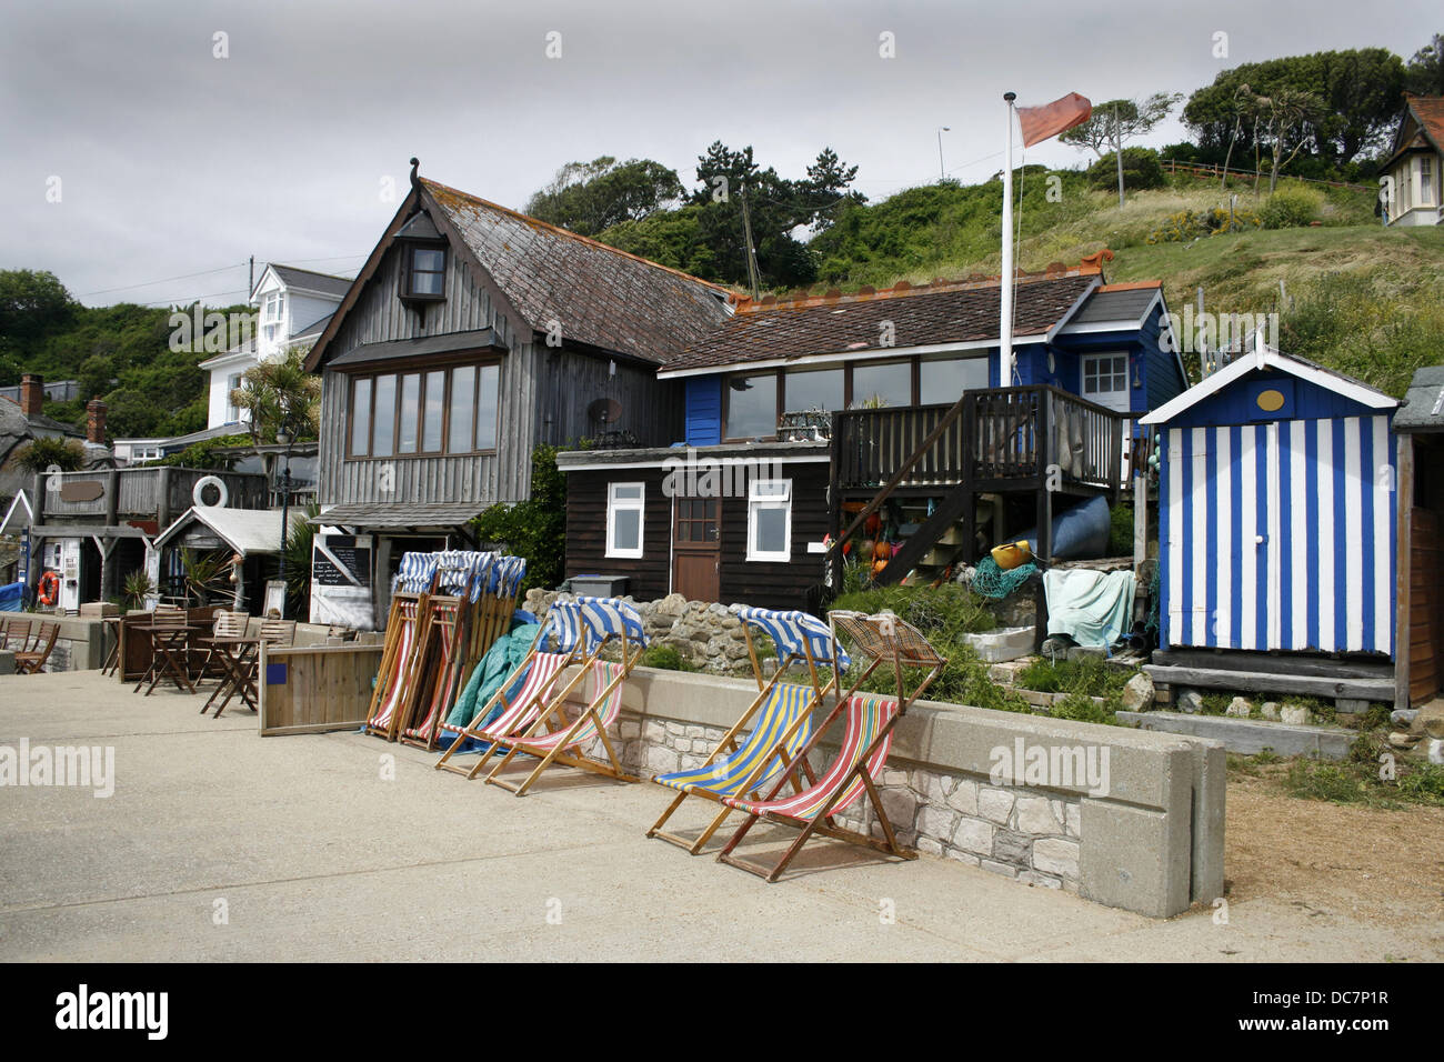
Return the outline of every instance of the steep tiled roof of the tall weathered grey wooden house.
[[[536,331],[663,364],[726,318],[726,289],[422,181]]]

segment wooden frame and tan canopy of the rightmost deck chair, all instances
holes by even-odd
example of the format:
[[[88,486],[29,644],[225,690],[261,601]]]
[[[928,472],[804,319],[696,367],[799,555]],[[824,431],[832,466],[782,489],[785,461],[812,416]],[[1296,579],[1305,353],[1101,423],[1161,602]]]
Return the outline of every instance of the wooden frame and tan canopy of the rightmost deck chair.
[[[833,631],[836,631],[840,624],[845,630],[855,637],[855,649],[868,659],[866,668],[853,681],[852,688],[838,699],[836,707],[827,714],[827,718],[820,727],[813,730],[812,737],[807,738],[807,744],[793,757],[793,764],[804,763],[807,754],[822,741],[823,734],[832,727],[832,724],[842,715],[843,711],[849,709],[852,698],[858,695],[864,682],[871,678],[872,672],[877,670],[884,663],[891,663],[897,679],[897,709],[892,712],[891,718],[882,724],[877,734],[874,734],[872,741],[868,743],[866,748],[856,757],[853,767],[833,786],[832,793],[823,803],[823,806],[809,819],[800,819],[790,815],[778,815],[774,812],[757,812],[749,811],[747,819],[738,826],[736,832],[726,842],[721,852],[718,852],[718,861],[726,863],[728,865],[738,867],[764,878],[768,883],[777,881],[787,865],[797,857],[809,839],[814,834],[823,837],[830,837],[838,841],[846,841],[849,844],[856,844],[877,851],[885,855],[892,855],[902,860],[915,860],[917,852],[911,848],[904,848],[898,844],[897,831],[892,828],[892,821],[888,818],[887,809],[882,806],[882,798],[878,793],[877,779],[869,773],[868,764],[872,761],[874,754],[884,741],[891,740],[894,727],[897,727],[898,720],[907,714],[908,705],[920,698],[934,679],[941,675],[943,668],[947,666],[947,660],[937,655],[937,650],[928,644],[927,639],[923,637],[917,629],[900,620],[891,613],[881,613],[878,616],[864,616],[862,613],[845,613],[832,611],[827,613],[827,621],[832,624]],[[927,675],[918,682],[913,689],[908,689],[905,681],[904,668],[927,668]],[[838,675],[840,686],[840,672]],[[879,764],[881,766],[881,764]],[[826,774],[826,772],[825,772]],[[796,770],[788,769],[783,777],[777,780],[773,790],[767,795],[765,800],[760,803],[767,803],[777,799],[781,793],[783,786],[791,777],[794,779]],[[882,826],[882,839],[874,838],[868,834],[861,834],[853,829],[846,829],[839,826],[833,818],[832,812],[836,808],[838,800],[843,793],[848,792],[851,783],[856,777],[862,782],[864,792],[868,800],[872,803],[872,809],[878,816],[878,824]],[[796,779],[794,779],[796,786]],[[771,867],[745,860],[742,857],[734,855],[736,847],[747,837],[748,831],[760,821],[767,819],[768,822],[791,826],[799,829],[797,838],[793,844],[783,852],[783,857]]]

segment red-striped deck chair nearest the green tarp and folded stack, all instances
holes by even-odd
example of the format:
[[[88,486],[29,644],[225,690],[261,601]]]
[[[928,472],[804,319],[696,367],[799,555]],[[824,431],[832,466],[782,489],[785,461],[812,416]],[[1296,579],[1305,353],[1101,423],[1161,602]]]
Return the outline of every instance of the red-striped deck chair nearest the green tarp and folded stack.
[[[539,629],[531,650],[517,669],[487,699],[465,727],[443,722],[442,731],[455,740],[436,761],[438,770],[449,770],[468,779],[477,777],[495,751],[495,740],[526,731],[553,701],[563,699],[586,676],[601,646],[586,636],[582,607],[575,601],[557,601]],[[578,665],[570,682],[557,689],[562,672]],[[485,743],[484,756],[474,764],[453,763],[465,751],[466,738]]]

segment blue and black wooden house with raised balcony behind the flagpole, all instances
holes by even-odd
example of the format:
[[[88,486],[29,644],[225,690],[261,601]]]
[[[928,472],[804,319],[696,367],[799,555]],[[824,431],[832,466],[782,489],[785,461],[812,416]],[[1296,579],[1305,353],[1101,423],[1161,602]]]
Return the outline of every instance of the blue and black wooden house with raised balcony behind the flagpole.
[[[1022,275],[1011,358],[998,316],[996,277],[736,301],[657,370],[683,389],[673,446],[559,457],[567,575],[803,607],[840,585],[829,536],[884,524],[878,581],[933,581],[1056,501],[1118,500],[1132,420],[1187,386],[1161,286],[1099,259]]]

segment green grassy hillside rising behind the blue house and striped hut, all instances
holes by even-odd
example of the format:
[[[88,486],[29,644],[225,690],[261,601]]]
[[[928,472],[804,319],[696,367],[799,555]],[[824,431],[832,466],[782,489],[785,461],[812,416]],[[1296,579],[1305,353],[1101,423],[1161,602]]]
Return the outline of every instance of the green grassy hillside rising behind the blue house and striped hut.
[[[1018,263],[1038,270],[1076,263],[1103,247],[1109,280],[1161,279],[1170,309],[1203,288],[1216,314],[1279,312],[1279,345],[1402,394],[1418,366],[1444,363],[1444,228],[1383,228],[1373,195],[1352,189],[1307,189],[1282,182],[1288,197],[1313,199],[1320,224],[1251,228],[1186,243],[1149,243],[1184,211],[1265,212],[1266,191],[1251,184],[1227,191],[1217,182],[1174,178],[1167,186],[1131,192],[1087,188],[1082,173],[1060,173],[1056,201],[1041,169],[1022,179]],[[813,241],[827,286],[884,288],[1001,270],[1001,181],[960,188],[913,188],[856,207]],[[1279,282],[1284,290],[1279,290]]]

